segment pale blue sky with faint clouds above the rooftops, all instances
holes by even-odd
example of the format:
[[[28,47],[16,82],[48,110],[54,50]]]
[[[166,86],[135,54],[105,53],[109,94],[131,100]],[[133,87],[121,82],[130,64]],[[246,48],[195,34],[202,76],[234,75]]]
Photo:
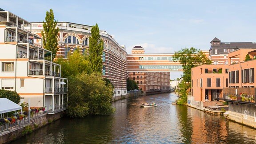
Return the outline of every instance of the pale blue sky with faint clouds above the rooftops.
[[[209,50],[222,42],[256,41],[256,0],[0,0],[0,8],[29,22],[42,22],[52,8],[55,19],[95,25],[131,53]]]

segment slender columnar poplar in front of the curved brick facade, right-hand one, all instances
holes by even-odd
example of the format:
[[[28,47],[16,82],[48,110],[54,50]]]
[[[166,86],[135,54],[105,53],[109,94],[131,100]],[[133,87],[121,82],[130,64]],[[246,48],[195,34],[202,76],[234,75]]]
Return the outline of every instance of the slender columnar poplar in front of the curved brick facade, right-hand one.
[[[89,61],[92,72],[101,72],[102,70],[102,52],[103,41],[100,39],[98,24],[92,26],[92,36],[89,39]]]

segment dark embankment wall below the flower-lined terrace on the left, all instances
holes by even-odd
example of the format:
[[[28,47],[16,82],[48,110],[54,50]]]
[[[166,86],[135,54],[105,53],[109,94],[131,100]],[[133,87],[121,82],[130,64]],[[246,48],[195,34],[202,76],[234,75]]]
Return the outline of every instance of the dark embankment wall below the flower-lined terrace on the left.
[[[38,128],[50,124],[52,121],[60,119],[63,116],[64,112],[58,112],[54,115],[43,114],[36,116],[30,120],[30,123],[17,126],[16,128],[12,128],[4,132],[4,134],[0,136],[0,144],[9,143],[13,140],[16,140],[21,136],[25,136]]]

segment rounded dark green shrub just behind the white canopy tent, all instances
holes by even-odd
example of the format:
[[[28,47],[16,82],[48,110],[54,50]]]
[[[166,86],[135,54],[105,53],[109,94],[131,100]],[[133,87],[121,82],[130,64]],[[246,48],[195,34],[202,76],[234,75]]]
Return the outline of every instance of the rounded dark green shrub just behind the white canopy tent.
[[[0,98],[7,98],[9,100],[12,100],[16,104],[20,103],[20,95],[14,91],[0,89]]]

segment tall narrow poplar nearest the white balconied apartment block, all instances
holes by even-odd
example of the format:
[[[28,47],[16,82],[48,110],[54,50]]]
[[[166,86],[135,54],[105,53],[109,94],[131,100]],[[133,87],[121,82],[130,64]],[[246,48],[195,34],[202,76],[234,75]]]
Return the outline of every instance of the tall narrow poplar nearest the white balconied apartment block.
[[[46,11],[45,21],[43,24],[44,31],[41,31],[43,46],[45,49],[52,51],[52,59],[54,59],[58,51],[57,36],[59,28],[56,28],[57,21],[54,20],[52,9],[50,9],[50,12]]]

